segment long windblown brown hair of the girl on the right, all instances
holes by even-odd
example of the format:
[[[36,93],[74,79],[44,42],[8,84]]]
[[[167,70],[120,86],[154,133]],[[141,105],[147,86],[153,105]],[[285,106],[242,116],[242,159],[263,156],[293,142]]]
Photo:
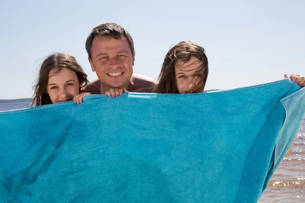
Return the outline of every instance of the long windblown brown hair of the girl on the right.
[[[194,56],[202,61],[198,85],[189,89],[186,93],[203,92],[208,76],[208,61],[203,47],[191,41],[182,41],[174,45],[165,55],[161,72],[158,77],[158,83],[154,87],[154,93],[174,93],[178,94],[175,65],[177,62],[188,62]]]

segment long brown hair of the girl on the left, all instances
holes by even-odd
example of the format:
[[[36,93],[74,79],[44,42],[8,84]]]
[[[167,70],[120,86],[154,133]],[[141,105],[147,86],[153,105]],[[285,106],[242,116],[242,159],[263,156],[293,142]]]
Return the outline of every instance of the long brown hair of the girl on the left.
[[[87,75],[84,73],[80,64],[76,59],[66,53],[54,53],[48,56],[41,64],[36,85],[33,87],[34,95],[31,107],[52,104],[49,94],[47,93],[47,85],[49,81],[49,73],[52,69],[58,69],[56,73],[66,67],[76,73],[80,88],[88,83]]]

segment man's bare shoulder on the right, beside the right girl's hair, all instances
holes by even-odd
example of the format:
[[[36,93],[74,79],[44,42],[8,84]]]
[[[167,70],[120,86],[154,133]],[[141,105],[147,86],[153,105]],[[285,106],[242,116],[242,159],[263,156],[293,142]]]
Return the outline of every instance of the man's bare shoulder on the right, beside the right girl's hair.
[[[131,77],[132,84],[129,86],[128,91],[149,93],[153,91],[156,82],[157,81],[154,78],[133,74]]]

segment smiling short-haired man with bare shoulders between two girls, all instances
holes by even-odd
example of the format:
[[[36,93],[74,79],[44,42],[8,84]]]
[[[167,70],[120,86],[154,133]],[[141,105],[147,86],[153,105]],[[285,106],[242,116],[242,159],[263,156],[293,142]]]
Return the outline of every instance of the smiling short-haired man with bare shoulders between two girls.
[[[92,71],[99,80],[83,88],[92,94],[106,91],[151,92],[155,84],[152,78],[133,75],[135,50],[133,39],[124,27],[116,23],[101,24],[90,32],[86,50]],[[121,94],[121,92],[120,92]]]

